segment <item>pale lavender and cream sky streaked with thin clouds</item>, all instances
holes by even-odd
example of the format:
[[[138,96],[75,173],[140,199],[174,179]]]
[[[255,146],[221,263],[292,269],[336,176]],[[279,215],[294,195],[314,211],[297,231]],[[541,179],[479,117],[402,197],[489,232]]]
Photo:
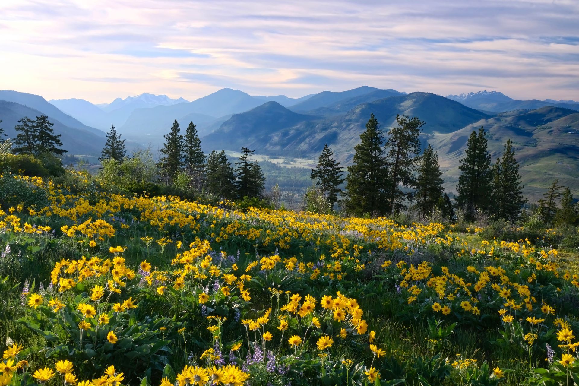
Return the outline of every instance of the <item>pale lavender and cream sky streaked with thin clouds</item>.
[[[0,89],[93,103],[362,85],[579,100],[578,16],[579,0],[2,0]]]

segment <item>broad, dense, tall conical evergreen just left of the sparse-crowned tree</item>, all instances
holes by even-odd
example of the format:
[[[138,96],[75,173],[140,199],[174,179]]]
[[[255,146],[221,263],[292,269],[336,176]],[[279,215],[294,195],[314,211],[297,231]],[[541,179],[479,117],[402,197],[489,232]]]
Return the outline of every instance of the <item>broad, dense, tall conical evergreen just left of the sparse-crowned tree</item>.
[[[383,215],[388,208],[388,167],[382,149],[384,137],[378,125],[378,120],[371,114],[366,131],[360,134],[361,143],[354,147],[353,164],[348,167],[346,194],[349,209],[356,215],[366,212]]]

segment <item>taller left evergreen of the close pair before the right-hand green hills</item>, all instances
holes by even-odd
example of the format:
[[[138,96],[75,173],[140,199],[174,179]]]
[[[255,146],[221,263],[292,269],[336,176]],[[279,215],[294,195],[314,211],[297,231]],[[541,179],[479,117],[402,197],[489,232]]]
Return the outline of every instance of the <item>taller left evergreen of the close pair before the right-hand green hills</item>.
[[[472,131],[467,142],[466,157],[460,160],[459,193],[457,204],[464,205],[467,210],[489,208],[489,192],[492,172],[490,170],[490,154],[484,128]]]

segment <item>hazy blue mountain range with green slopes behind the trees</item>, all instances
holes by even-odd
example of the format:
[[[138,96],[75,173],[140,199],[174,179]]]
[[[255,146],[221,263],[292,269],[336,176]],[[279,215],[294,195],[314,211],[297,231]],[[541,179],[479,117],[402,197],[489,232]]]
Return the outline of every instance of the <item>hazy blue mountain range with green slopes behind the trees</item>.
[[[579,194],[579,103],[573,100],[521,101],[498,91],[442,97],[369,86],[302,98],[222,89],[191,102],[141,94],[101,105],[79,99],[49,103],[39,95],[5,90],[0,100],[0,119],[9,135],[21,116],[42,112],[75,154],[100,153],[111,124],[123,138],[160,146],[177,119],[183,128],[190,121],[197,125],[207,152],[245,146],[262,155],[313,160],[327,143],[344,166],[351,162],[371,113],[384,131],[398,114],[418,116],[426,122],[421,141],[437,150],[450,191],[456,186],[468,135],[484,126],[493,159],[508,138],[514,141],[526,194],[538,197],[554,178]]]

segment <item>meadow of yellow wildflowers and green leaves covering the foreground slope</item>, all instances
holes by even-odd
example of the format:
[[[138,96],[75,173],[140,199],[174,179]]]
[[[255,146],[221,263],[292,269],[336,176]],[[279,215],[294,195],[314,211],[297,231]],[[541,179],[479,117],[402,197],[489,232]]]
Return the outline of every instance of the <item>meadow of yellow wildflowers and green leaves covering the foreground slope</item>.
[[[67,173],[0,177],[27,192],[0,208],[0,386],[579,382],[562,230],[241,210]]]

